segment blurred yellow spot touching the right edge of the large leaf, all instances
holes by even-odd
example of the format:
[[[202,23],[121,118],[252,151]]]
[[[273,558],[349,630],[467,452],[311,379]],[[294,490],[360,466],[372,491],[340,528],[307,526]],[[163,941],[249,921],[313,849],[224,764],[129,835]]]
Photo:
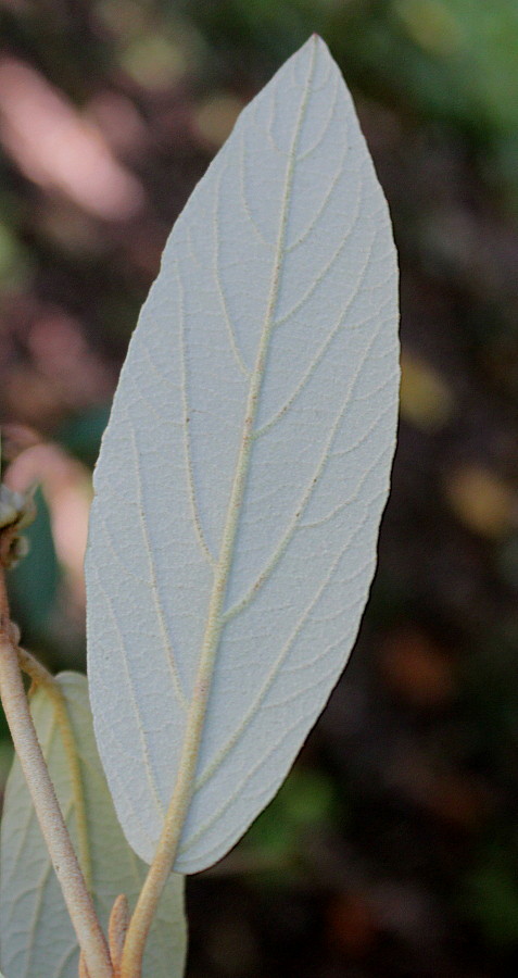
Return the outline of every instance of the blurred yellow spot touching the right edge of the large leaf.
[[[442,377],[410,353],[401,358],[401,416],[425,431],[435,431],[448,419],[453,394]]]

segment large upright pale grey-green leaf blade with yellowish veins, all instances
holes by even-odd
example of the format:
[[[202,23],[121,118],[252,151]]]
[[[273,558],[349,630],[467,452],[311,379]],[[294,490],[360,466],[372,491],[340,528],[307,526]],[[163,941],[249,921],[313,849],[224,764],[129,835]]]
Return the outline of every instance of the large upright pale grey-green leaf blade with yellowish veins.
[[[387,205],[314,37],[178,218],[97,468],[90,695],[147,861],[173,792],[175,868],[223,856],[345,664],[389,486],[396,318]]]

